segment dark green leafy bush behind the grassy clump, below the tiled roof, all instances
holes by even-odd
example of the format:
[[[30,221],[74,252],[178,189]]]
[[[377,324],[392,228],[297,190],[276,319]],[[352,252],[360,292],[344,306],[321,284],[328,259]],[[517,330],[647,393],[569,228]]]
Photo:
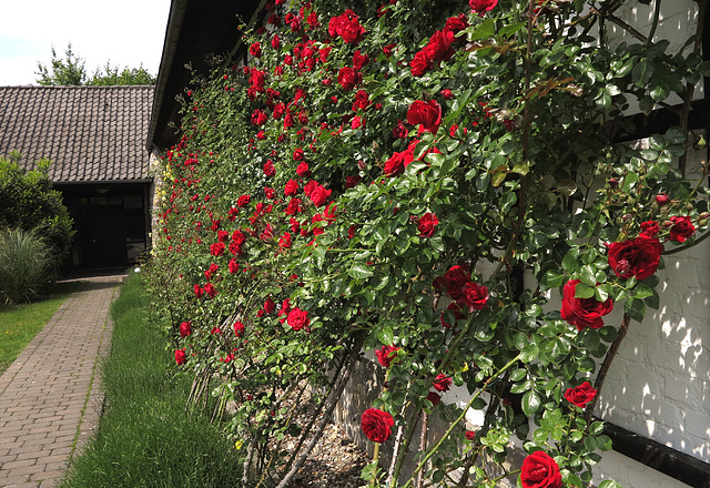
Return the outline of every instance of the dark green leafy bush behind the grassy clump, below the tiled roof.
[[[61,193],[52,190],[50,162],[38,161],[36,170],[26,172],[18,159],[17,154],[0,157],[0,228],[37,230],[47,247],[43,257],[55,272],[71,248],[73,221]]]

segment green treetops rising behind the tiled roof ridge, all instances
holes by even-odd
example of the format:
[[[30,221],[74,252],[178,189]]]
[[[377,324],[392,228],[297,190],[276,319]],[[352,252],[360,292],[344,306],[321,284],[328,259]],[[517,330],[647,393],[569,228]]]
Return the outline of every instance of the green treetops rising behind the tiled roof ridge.
[[[143,68],[141,64],[139,68],[124,67],[122,70],[119,65],[112,67],[110,61],[106,61],[103,70],[97,69],[94,73],[89,77],[87,74],[85,61],[75,54],[71,49],[71,42],[67,45],[64,51],[65,58],[59,59],[57,51],[52,48],[52,60],[50,67],[38,62],[38,78],[37,82],[42,85],[64,85],[64,87],[109,87],[109,85],[138,85],[138,84],[155,84],[155,77]]]

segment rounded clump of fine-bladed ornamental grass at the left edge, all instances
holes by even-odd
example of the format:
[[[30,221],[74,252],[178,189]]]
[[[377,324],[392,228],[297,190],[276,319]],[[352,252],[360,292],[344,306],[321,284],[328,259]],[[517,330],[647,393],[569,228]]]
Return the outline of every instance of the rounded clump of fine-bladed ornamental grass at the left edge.
[[[52,258],[38,230],[0,231],[0,299],[29,302],[43,293],[52,277]]]

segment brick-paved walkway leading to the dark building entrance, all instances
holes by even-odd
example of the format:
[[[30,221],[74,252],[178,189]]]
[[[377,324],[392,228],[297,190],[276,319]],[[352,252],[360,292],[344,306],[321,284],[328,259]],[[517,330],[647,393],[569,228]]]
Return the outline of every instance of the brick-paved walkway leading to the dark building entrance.
[[[0,376],[0,487],[53,487],[98,425],[97,359],[109,350],[122,277],[82,278]]]

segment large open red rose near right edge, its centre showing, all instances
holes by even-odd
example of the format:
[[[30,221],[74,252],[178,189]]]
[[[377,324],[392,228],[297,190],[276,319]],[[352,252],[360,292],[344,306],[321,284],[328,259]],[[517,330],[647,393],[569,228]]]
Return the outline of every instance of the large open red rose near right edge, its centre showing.
[[[657,238],[637,237],[609,245],[609,266],[621,278],[645,279],[656,273],[663,245]]]

